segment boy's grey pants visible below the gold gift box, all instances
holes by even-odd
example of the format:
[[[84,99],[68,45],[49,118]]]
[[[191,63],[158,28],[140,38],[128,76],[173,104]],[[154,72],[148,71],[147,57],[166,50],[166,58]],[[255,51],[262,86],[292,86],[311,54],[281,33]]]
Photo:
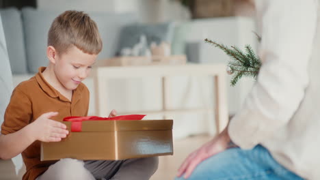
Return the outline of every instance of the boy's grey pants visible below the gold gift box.
[[[62,159],[36,180],[148,180],[158,168],[158,157],[104,161]]]

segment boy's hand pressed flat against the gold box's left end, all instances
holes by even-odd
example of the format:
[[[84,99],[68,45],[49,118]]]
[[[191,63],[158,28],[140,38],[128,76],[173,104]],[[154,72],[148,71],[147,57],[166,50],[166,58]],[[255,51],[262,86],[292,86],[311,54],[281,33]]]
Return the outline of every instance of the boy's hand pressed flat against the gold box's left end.
[[[66,125],[50,119],[57,114],[58,112],[46,112],[38,117],[36,121],[30,124],[31,136],[42,142],[58,142],[62,138],[66,138],[69,133],[66,130]]]

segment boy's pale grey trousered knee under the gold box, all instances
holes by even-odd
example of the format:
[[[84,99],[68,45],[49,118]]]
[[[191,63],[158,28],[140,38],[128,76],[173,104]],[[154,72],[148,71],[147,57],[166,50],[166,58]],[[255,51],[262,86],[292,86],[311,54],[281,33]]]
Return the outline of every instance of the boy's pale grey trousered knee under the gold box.
[[[93,179],[93,176],[84,167],[84,162],[75,159],[62,159],[56,162],[52,168],[55,168],[57,179]]]

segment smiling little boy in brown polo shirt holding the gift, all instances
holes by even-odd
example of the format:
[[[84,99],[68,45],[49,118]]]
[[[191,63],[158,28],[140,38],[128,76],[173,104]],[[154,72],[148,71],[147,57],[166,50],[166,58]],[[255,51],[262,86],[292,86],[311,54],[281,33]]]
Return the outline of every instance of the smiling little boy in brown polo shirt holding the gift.
[[[102,46],[96,23],[88,14],[66,11],[53,21],[46,49],[49,65],[40,67],[36,76],[14,89],[1,126],[0,158],[22,153],[27,168],[24,180],[142,180],[157,170],[157,157],[40,161],[40,141],[57,142],[69,133],[59,121],[68,116],[87,116],[89,91],[81,81],[88,77]]]

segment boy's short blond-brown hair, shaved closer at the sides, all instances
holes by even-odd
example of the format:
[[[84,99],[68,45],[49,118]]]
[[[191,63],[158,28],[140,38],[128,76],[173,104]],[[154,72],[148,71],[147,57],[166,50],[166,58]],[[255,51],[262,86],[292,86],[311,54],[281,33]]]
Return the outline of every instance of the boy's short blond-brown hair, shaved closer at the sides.
[[[59,55],[72,45],[90,55],[98,55],[102,49],[98,27],[84,12],[66,11],[53,20],[49,29],[48,46],[53,46]]]

